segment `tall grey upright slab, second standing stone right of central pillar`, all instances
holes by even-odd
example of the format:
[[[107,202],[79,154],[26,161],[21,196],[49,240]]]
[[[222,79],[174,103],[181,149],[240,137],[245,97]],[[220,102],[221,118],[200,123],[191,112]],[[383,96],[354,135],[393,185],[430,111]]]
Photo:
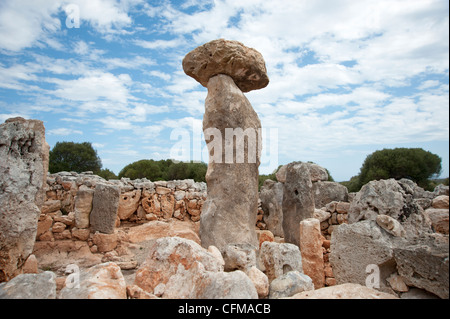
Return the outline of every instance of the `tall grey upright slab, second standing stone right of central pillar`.
[[[283,231],[286,242],[300,245],[299,225],[313,217],[314,196],[308,163],[287,165],[283,184]]]

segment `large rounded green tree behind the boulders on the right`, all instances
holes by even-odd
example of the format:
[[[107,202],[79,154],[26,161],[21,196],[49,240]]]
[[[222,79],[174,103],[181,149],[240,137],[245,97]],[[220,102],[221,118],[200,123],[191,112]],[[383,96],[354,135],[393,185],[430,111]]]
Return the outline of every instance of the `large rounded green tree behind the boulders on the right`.
[[[408,178],[428,189],[429,179],[439,176],[441,170],[441,158],[421,148],[383,149],[366,157],[358,187],[372,180]]]

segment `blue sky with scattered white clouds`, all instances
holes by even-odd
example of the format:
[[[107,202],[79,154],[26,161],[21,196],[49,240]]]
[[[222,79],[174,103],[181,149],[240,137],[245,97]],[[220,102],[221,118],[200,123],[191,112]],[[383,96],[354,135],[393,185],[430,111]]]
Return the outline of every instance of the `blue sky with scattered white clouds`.
[[[182,59],[219,38],[266,63],[245,93],[261,174],[312,161],[346,181],[376,150],[418,147],[449,176],[448,0],[0,0],[0,123],[42,120],[50,147],[91,142],[116,174],[207,162],[207,89]]]

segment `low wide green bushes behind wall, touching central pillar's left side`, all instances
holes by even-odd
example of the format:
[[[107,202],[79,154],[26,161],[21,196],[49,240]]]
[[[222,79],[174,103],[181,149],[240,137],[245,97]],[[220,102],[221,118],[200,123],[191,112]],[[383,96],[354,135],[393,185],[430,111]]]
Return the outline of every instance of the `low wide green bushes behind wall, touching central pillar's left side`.
[[[208,166],[205,163],[174,162],[172,160],[140,160],[125,166],[119,173],[119,178],[144,178],[151,181],[193,179],[204,182]]]

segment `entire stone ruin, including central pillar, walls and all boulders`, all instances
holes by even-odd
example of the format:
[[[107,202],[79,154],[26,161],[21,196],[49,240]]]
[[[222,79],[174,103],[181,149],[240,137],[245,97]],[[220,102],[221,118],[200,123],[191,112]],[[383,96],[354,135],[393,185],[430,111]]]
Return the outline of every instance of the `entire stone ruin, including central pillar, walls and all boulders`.
[[[448,186],[348,193],[293,162],[258,193],[259,135],[243,162],[217,145],[261,127],[243,95],[268,83],[261,55],[221,39],[183,68],[208,88],[207,184],[47,174],[42,122],[0,125],[0,298],[448,298]]]

